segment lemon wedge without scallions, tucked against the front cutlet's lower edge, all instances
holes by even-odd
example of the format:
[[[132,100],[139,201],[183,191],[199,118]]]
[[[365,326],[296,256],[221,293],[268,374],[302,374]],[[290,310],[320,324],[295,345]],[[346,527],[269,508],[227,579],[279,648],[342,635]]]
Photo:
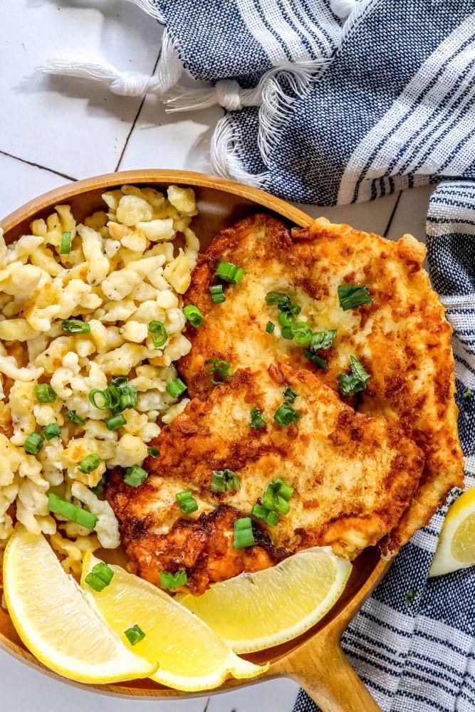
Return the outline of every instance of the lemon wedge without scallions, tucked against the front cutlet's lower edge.
[[[342,594],[350,562],[330,547],[307,549],[278,565],[216,583],[202,596],[177,599],[236,653],[250,653],[297,637]]]

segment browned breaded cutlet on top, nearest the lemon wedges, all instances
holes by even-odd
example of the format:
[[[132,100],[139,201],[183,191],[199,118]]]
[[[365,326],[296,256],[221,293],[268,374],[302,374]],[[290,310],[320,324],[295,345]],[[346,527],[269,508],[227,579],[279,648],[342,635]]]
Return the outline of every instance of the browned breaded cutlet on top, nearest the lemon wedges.
[[[274,414],[288,386],[297,415],[279,425]],[[259,428],[252,408],[266,422]],[[115,473],[106,496],[139,575],[158,585],[160,570],[186,567],[197,594],[314,545],[353,559],[400,520],[424,466],[398,424],[354,412],[309,370],[285,363],[236,371],[206,400],[193,399],[152,445],[161,455],[146,461],[145,483],[132,488]],[[240,489],[213,492],[213,471],[226,469]],[[234,520],[249,516],[275,476],[293,488],[290,512],[276,525],[254,523],[256,545],[234,548]],[[184,519],[175,496],[187,488],[199,508]]]

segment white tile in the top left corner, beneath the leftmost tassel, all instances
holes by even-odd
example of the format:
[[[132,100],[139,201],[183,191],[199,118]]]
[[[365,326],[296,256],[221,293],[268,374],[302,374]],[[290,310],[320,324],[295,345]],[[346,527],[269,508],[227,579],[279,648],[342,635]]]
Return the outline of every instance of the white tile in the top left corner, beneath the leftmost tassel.
[[[73,4],[74,5],[74,4]],[[2,0],[0,150],[80,178],[115,169],[140,98],[48,77],[54,56],[150,73],[162,29],[136,6]]]

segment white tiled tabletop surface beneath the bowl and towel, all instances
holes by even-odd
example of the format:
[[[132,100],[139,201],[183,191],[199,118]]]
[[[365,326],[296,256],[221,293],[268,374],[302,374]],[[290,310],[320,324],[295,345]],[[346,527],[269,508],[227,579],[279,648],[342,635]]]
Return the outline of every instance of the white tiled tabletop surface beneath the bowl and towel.
[[[155,98],[118,98],[79,80],[39,74],[53,55],[150,72],[161,28],[125,0],[0,0],[0,215],[48,189],[116,169],[209,172],[207,145],[221,109],[167,115]],[[311,207],[391,238],[424,237],[430,189],[371,204]],[[389,228],[389,229],[388,229]],[[0,709],[9,712],[290,712],[297,686],[276,680],[179,702],[97,696],[50,679],[0,651]]]

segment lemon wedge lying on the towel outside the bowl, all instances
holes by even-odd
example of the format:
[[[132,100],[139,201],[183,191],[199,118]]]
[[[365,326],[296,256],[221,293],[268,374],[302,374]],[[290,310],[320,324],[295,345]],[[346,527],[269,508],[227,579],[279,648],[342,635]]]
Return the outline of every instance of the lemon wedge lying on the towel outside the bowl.
[[[475,487],[472,487],[449,507],[429,576],[442,576],[474,564]]]

